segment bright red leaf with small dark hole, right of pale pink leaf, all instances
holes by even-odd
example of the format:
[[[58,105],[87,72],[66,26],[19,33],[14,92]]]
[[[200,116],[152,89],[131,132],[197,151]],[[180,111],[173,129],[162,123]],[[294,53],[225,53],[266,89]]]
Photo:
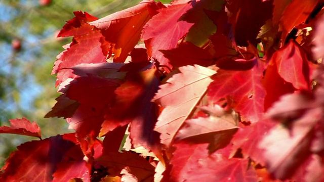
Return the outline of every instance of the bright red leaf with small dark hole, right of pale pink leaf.
[[[209,86],[210,101],[218,102],[227,98],[242,120],[257,122],[263,113],[265,90],[261,84],[263,65],[254,58],[255,66],[247,71],[219,69]],[[234,88],[234,89],[233,89]]]

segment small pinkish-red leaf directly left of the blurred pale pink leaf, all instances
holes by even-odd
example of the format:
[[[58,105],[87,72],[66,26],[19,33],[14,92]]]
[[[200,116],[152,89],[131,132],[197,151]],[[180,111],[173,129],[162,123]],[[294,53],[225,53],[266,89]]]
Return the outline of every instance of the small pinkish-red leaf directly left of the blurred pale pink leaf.
[[[256,146],[274,125],[275,122],[272,120],[260,120],[252,125],[239,128],[231,141],[233,148],[240,148],[244,158],[251,157],[257,163],[265,165],[261,150]]]

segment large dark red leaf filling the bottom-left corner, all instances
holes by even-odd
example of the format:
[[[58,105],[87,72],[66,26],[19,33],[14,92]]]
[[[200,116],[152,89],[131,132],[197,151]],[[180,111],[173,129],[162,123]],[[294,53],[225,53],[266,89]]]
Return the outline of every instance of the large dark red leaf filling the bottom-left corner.
[[[73,142],[64,140],[62,136],[64,135],[27,142],[18,146],[18,150],[10,155],[2,168],[3,173],[0,180],[52,181],[56,164],[65,160],[65,157],[68,157],[66,156],[67,151],[75,146]],[[74,171],[77,172],[77,170]],[[85,174],[80,175],[76,176],[81,178]]]

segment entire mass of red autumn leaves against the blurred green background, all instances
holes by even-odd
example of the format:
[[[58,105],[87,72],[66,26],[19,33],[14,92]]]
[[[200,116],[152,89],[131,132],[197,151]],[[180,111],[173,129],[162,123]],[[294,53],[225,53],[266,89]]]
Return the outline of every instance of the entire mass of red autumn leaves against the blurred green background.
[[[101,19],[74,12],[46,117],[75,132],[18,146],[0,179],[324,181],[323,5],[145,0]],[[41,137],[11,122],[0,132]]]

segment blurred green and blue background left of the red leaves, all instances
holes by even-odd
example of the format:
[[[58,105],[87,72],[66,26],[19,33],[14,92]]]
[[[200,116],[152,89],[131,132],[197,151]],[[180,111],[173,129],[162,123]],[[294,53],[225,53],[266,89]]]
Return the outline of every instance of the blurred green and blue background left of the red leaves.
[[[55,57],[71,38],[56,38],[73,11],[102,18],[138,4],[140,0],[0,0],[0,126],[25,117],[42,129],[43,138],[68,131],[62,118],[44,118],[59,96]],[[164,1],[164,3],[170,1]],[[0,135],[0,167],[28,136]]]

